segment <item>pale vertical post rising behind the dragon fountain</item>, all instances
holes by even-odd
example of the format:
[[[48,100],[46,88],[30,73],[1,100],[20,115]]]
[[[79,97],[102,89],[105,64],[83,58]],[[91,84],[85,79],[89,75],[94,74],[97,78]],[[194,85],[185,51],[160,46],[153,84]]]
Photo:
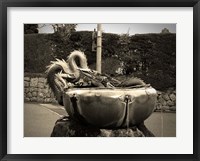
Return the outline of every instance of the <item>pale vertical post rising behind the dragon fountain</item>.
[[[101,53],[102,53],[102,29],[101,24],[97,24],[97,57],[96,57],[96,70],[101,73]]]

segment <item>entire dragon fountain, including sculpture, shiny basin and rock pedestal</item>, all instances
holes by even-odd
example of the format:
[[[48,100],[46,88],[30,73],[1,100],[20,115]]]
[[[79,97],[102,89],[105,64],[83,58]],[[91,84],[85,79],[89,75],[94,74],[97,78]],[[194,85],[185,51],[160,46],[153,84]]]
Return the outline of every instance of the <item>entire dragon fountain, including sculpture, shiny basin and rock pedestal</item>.
[[[56,122],[51,136],[154,136],[144,120],[154,111],[157,93],[142,80],[121,82],[91,70],[80,51],[66,62],[52,62],[47,80],[69,114]]]

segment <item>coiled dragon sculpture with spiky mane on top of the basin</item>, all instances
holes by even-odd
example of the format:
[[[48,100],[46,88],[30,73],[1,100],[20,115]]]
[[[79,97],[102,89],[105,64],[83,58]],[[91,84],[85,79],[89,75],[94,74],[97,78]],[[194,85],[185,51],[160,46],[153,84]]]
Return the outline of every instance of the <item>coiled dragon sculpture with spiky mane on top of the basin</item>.
[[[75,59],[79,60],[79,66]],[[56,59],[47,66],[47,82],[52,89],[58,103],[63,105],[63,92],[70,88],[99,87],[116,88],[145,86],[139,78],[119,81],[107,74],[100,74],[87,65],[86,55],[81,51],[73,51],[67,61]]]

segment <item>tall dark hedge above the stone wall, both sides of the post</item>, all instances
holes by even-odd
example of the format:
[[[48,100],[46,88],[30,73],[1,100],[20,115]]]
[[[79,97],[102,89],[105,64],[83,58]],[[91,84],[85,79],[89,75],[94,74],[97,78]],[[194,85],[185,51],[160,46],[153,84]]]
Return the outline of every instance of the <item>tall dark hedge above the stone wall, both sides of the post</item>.
[[[103,33],[102,45],[103,72],[116,75],[123,62],[126,75],[140,77],[156,89],[176,85],[176,34]],[[72,31],[66,38],[56,33],[25,36],[25,71],[43,72],[50,60],[66,60],[73,50],[83,51],[89,66],[96,68],[90,31]]]

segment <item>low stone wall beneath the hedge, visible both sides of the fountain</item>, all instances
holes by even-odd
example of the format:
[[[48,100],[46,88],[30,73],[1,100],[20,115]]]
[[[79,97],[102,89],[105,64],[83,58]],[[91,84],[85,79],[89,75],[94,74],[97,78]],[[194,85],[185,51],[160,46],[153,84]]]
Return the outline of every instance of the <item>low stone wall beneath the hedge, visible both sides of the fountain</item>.
[[[157,111],[176,111],[176,90],[157,91]],[[54,94],[47,84],[47,79],[41,76],[24,77],[24,101],[40,103],[56,103]]]

